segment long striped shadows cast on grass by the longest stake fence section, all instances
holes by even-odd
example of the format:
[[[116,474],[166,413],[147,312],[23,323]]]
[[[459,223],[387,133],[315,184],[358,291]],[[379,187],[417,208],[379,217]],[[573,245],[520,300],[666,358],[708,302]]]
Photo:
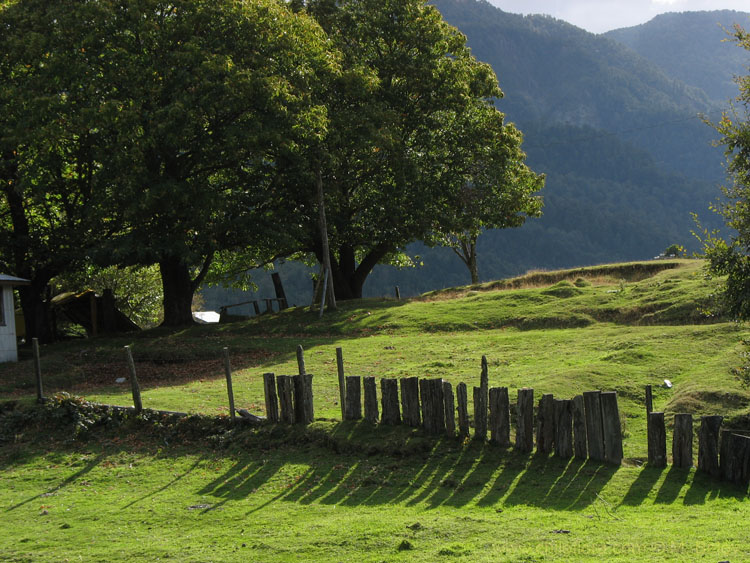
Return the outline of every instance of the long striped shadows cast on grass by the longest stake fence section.
[[[357,434],[357,442],[371,430],[367,423],[340,423],[333,437]],[[381,444],[407,433],[396,451],[346,451],[337,455],[320,448],[284,446],[267,450],[265,459],[242,455],[225,474],[198,494],[229,501],[251,499],[261,487],[273,491],[249,513],[276,501],[343,506],[404,504],[462,507],[470,503],[533,505],[577,510],[596,500],[618,467],[590,460],[528,456],[479,442],[463,446],[456,438],[431,439],[411,429],[379,432]],[[409,434],[410,433],[410,434]],[[330,444],[329,444],[330,445]],[[294,468],[294,469],[291,469]]]

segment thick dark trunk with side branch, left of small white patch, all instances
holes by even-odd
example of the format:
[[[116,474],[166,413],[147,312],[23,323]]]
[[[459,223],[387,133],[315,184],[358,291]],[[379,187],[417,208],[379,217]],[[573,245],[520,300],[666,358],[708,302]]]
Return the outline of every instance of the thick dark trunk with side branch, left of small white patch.
[[[193,324],[193,295],[211,264],[211,256],[203,263],[195,279],[190,277],[190,267],[180,257],[166,256],[159,261],[162,289],[164,290],[164,321],[162,326]]]

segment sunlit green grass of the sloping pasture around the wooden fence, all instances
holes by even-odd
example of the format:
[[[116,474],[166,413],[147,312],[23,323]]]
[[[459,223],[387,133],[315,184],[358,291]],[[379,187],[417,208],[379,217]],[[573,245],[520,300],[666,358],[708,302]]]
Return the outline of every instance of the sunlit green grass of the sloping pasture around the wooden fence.
[[[712,313],[717,288],[696,261],[635,263],[341,303],[322,320],[294,309],[45,346],[48,394],[131,404],[128,384],[114,382],[127,375],[129,344],[146,407],[226,415],[224,346],[238,406],[263,414],[262,374],[296,373],[301,344],[318,420],[307,430],[209,425],[210,439],[147,421],[66,443],[52,441],[70,437],[64,425],[6,432],[0,559],[748,560],[746,491],[642,467],[646,384],[668,421],[674,412],[724,414],[734,426],[750,418],[750,331]],[[625,463],[529,458],[336,422],[337,347],[351,375],[469,386],[486,355],[490,385],[508,386],[512,402],[526,386],[537,398],[616,390]],[[0,396],[31,404],[30,359],[0,366]]]

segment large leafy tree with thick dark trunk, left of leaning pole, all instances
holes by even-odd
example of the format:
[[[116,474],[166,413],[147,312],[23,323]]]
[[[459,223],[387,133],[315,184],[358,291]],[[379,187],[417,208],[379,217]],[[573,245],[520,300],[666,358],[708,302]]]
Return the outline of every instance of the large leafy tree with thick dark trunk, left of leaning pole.
[[[325,131],[311,98],[335,69],[325,34],[276,0],[32,0],[6,4],[2,18],[4,39],[44,43],[5,66],[14,77],[50,69],[38,96],[71,116],[59,135],[101,137],[93,169],[106,208],[92,219],[112,232],[91,257],[158,264],[164,324],[192,322],[215,252],[272,240],[276,163]],[[27,87],[9,88],[7,105]]]

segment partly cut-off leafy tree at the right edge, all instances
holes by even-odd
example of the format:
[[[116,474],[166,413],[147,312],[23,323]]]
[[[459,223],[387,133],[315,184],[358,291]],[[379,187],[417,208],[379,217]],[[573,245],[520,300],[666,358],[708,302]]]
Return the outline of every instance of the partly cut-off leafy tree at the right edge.
[[[735,26],[733,39],[750,51],[750,33]],[[706,256],[710,270],[726,275],[724,302],[730,314],[750,319],[750,76],[736,79],[740,93],[731,112],[725,112],[714,126],[725,147],[731,183],[724,187],[719,206],[726,224],[733,230],[729,241],[710,234]]]

